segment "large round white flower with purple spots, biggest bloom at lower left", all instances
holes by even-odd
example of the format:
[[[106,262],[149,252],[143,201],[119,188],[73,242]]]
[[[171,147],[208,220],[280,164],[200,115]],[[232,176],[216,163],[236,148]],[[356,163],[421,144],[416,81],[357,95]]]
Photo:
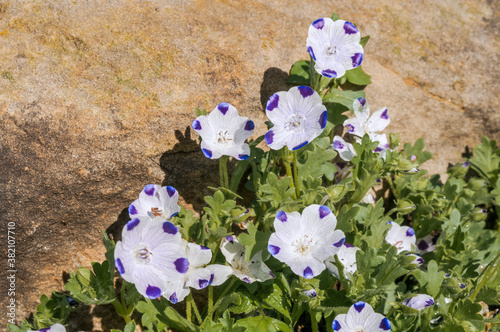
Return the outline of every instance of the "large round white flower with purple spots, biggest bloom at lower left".
[[[189,269],[181,235],[168,221],[150,222],[148,217],[130,220],[115,248],[115,266],[137,291],[154,299]]]

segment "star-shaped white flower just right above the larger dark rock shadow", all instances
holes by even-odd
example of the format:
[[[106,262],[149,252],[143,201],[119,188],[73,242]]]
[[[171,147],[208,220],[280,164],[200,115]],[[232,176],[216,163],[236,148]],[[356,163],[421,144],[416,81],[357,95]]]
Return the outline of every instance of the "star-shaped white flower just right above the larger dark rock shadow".
[[[201,151],[205,157],[231,156],[245,160],[250,156],[245,140],[252,135],[255,126],[252,120],[239,116],[234,106],[221,103],[209,115],[197,117],[192,127],[202,138]]]

